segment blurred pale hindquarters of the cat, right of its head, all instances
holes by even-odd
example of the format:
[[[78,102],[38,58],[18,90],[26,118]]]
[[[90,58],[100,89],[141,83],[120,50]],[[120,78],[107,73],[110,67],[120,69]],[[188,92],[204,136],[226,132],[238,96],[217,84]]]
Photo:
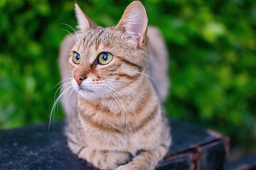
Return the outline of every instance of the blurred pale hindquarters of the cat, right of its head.
[[[168,51],[166,44],[158,28],[149,26],[147,35],[149,38],[149,74],[153,77],[152,84],[156,89],[161,102],[164,102],[169,94]]]

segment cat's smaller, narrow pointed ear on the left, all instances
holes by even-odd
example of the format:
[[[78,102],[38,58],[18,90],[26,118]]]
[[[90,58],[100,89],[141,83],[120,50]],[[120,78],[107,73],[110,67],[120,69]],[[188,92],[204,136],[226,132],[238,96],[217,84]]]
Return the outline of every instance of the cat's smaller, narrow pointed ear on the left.
[[[85,32],[90,29],[94,29],[97,27],[96,23],[94,23],[85,13],[82,12],[81,8],[75,1],[75,16],[78,20],[78,29],[82,32]]]

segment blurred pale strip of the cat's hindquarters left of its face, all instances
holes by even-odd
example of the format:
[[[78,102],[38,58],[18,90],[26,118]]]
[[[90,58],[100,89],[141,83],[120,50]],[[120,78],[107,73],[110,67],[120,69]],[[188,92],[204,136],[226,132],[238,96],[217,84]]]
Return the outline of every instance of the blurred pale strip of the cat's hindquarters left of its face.
[[[77,103],[77,94],[75,93],[75,91],[73,91],[73,88],[68,89],[71,86],[71,74],[68,67],[68,58],[73,45],[75,45],[75,39],[73,38],[73,35],[67,35],[63,42],[61,42],[58,59],[60,67],[60,77],[62,80],[61,89],[62,91],[65,91],[65,94],[63,94],[63,97],[61,98],[61,103],[67,117],[73,114]]]

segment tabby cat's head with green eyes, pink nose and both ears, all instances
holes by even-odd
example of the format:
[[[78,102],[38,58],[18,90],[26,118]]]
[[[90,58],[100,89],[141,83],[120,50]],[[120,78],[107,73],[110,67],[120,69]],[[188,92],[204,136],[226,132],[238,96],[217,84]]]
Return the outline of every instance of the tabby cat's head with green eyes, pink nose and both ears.
[[[146,10],[141,2],[127,6],[117,24],[102,28],[75,4],[79,38],[68,60],[73,88],[83,98],[119,96],[134,89],[146,72]],[[128,89],[127,89],[128,88]]]

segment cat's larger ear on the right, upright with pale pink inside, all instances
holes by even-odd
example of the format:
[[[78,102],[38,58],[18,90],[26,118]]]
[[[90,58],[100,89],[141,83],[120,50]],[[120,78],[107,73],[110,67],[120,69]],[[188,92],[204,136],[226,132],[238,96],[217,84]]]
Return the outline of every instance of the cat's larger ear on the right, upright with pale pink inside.
[[[140,1],[133,1],[125,9],[116,28],[121,28],[129,35],[132,35],[141,46],[146,38],[147,22],[146,9]]]

